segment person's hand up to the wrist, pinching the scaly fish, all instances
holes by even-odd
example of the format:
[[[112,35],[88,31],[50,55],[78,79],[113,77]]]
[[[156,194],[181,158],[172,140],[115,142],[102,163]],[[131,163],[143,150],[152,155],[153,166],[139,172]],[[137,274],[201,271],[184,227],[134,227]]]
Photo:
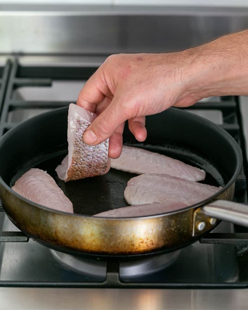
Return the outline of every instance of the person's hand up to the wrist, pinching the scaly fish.
[[[109,156],[117,158],[126,120],[135,138],[144,141],[146,115],[195,103],[198,98],[185,93],[184,67],[183,53],[108,57],[78,96],[78,105],[99,115],[85,132],[85,142],[95,145],[110,137]]]

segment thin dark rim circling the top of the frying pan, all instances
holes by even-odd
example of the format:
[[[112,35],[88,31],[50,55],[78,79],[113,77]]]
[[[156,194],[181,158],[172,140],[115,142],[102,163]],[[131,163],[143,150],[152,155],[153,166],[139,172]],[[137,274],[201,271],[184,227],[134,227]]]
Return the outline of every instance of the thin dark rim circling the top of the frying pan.
[[[39,118],[39,117],[43,117],[43,115],[47,115],[50,113],[54,113],[55,111],[58,110],[65,110],[68,109],[68,107],[62,107],[62,108],[56,108],[54,110],[48,111],[48,112],[44,112],[44,113],[40,113],[36,116],[33,116],[29,119],[27,119],[26,121],[20,123],[19,125],[11,128],[9,131],[7,131],[1,138],[0,138],[0,149],[1,149],[1,145],[4,143],[4,141],[6,139],[8,139],[8,136],[12,133],[12,131],[18,130],[18,128],[20,129],[21,126],[24,126],[24,124],[26,122],[29,122],[30,120],[33,120],[34,118]],[[18,197],[20,200],[29,203],[29,205],[32,205],[34,207],[38,207],[40,209],[46,210],[48,212],[53,212],[56,214],[60,214],[60,215],[64,215],[64,216],[71,216],[71,217],[76,217],[76,218],[81,218],[81,219],[88,219],[88,218],[92,218],[94,220],[109,220],[109,221],[118,221],[118,220],[143,220],[143,219],[153,219],[153,218],[157,218],[157,217],[163,217],[163,216],[169,216],[169,215],[174,215],[177,213],[181,213],[184,211],[188,211],[191,209],[195,209],[198,208],[200,206],[204,206],[205,204],[207,204],[208,202],[214,200],[215,198],[217,198],[220,194],[224,193],[237,179],[237,176],[239,175],[241,168],[242,168],[242,164],[243,164],[243,157],[242,157],[242,152],[241,149],[239,147],[239,145],[237,144],[236,140],[227,132],[225,131],[223,128],[221,128],[220,126],[216,125],[215,123],[207,120],[204,117],[198,116],[198,115],[193,115],[192,113],[179,109],[179,108],[175,108],[175,107],[170,107],[169,109],[173,109],[173,110],[177,110],[177,113],[186,113],[188,114],[189,117],[195,117],[197,119],[199,119],[202,123],[205,123],[207,126],[212,126],[214,127],[217,131],[219,131],[220,134],[222,134],[222,136],[229,140],[232,143],[233,146],[233,150],[235,151],[235,154],[237,156],[237,158],[240,158],[240,161],[238,161],[237,166],[235,168],[235,171],[232,175],[232,178],[228,181],[227,184],[224,185],[223,188],[221,188],[217,193],[215,193],[214,195],[210,196],[209,198],[206,198],[202,201],[199,201],[193,205],[187,206],[185,208],[179,209],[179,210],[174,210],[174,211],[170,211],[170,212],[166,212],[166,213],[159,213],[159,214],[154,214],[154,215],[147,215],[147,216],[133,216],[133,217],[100,217],[100,216],[94,216],[94,215],[83,215],[83,214],[77,214],[77,213],[68,213],[68,212],[64,212],[64,211],[60,211],[60,210],[55,210],[55,209],[51,209],[48,208],[46,206],[43,206],[41,204],[35,203],[23,196],[21,196],[20,194],[16,193],[14,190],[12,190],[10,188],[10,186],[7,185],[7,183],[5,183],[5,181],[2,179],[2,176],[0,175],[0,184],[2,184],[2,186],[11,194],[13,194],[14,196]],[[4,206],[3,206],[4,208]]]

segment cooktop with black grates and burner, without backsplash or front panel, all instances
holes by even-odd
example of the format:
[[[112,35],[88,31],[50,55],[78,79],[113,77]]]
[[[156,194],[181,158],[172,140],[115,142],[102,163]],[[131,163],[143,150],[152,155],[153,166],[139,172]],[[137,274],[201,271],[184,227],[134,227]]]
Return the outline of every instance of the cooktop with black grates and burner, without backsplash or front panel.
[[[11,59],[1,68],[1,135],[25,119],[75,102],[100,59],[80,66],[39,66]],[[38,98],[38,100],[37,100]],[[246,158],[238,97],[201,100],[188,111],[214,121],[240,145]],[[236,181],[234,200],[247,203],[247,164]],[[3,211],[3,209],[1,209]],[[80,288],[248,287],[248,230],[222,222],[200,242],[176,252],[135,260],[74,257],[29,240],[1,212],[0,286]]]

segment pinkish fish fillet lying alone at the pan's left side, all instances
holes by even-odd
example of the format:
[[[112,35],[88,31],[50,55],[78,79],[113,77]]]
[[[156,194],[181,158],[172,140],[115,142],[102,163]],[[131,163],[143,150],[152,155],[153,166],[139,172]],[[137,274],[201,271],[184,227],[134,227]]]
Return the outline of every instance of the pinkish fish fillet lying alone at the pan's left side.
[[[73,205],[55,180],[45,171],[32,168],[11,187],[21,196],[51,209],[73,213]]]

